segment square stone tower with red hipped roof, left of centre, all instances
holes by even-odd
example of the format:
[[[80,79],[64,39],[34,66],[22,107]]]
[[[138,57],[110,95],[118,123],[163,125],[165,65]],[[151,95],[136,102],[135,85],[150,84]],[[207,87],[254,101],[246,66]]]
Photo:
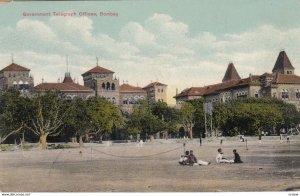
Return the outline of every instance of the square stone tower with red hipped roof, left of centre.
[[[96,96],[104,97],[113,104],[120,104],[119,80],[114,72],[97,65],[82,74],[84,86],[92,88]]]

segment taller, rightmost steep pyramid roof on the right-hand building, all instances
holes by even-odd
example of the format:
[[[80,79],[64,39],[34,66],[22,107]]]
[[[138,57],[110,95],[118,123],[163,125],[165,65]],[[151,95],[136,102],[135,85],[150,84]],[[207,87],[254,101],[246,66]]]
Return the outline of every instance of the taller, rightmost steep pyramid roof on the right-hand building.
[[[274,68],[272,70],[273,74],[294,74],[294,70],[295,68],[293,67],[286,52],[284,50],[281,51],[277,57]]]

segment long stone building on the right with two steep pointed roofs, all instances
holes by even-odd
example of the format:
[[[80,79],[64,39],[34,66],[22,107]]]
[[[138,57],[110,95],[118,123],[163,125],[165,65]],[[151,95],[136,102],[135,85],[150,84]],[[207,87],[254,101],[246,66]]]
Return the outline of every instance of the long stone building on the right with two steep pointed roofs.
[[[180,105],[196,98],[204,98],[206,102],[226,102],[247,97],[275,97],[300,109],[300,77],[294,74],[294,70],[286,52],[281,51],[272,73],[250,74],[241,79],[233,63],[230,63],[222,83],[191,87],[174,98],[176,104]]]

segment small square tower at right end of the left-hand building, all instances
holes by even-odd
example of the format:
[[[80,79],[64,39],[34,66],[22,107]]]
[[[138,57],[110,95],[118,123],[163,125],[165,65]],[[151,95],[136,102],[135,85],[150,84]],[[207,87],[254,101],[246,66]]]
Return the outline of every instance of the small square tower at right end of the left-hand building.
[[[152,82],[143,89],[147,92],[147,98],[151,101],[167,102],[167,86],[160,82]]]

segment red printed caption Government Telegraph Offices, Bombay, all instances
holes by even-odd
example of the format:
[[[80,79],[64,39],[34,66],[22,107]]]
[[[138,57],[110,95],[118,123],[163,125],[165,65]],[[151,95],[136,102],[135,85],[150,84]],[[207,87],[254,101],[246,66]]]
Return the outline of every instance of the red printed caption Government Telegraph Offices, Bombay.
[[[118,12],[23,12],[23,16],[94,17],[94,16],[119,16],[119,13]]]

